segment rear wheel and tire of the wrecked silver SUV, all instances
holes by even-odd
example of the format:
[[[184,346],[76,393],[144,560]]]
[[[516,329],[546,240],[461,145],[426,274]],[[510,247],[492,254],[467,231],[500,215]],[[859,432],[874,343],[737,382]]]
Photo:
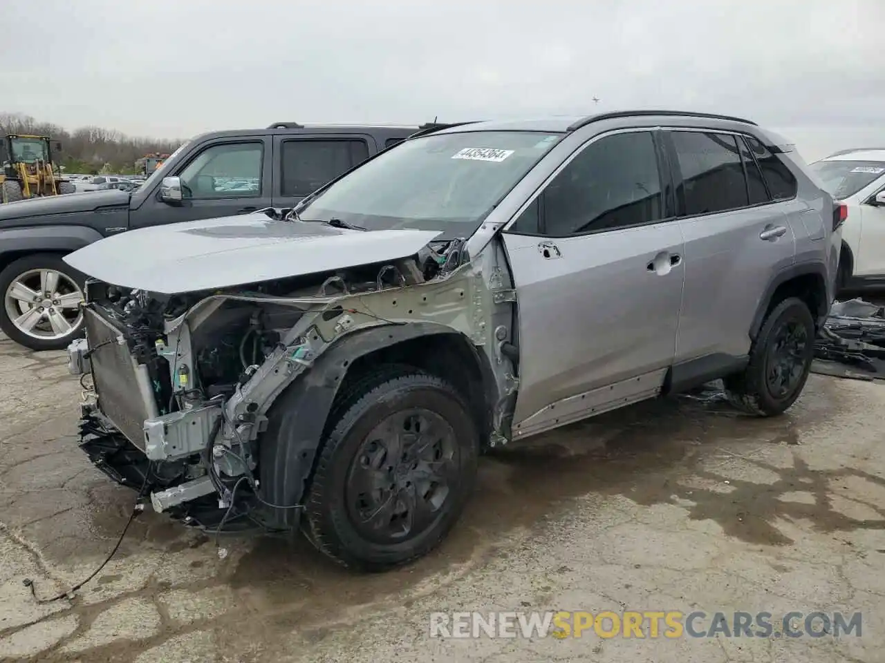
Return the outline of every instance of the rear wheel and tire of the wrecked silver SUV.
[[[772,353],[775,344],[781,341],[781,332],[792,328],[804,338],[804,343],[789,354],[778,366]],[[799,397],[804,389],[814,358],[814,318],[808,305],[796,298],[781,301],[766,316],[757,339],[750,348],[750,362],[743,373],[726,377],[728,401],[737,409],[756,416],[775,416],[784,413]],[[781,391],[766,379],[769,375],[781,376],[788,368],[791,379]]]

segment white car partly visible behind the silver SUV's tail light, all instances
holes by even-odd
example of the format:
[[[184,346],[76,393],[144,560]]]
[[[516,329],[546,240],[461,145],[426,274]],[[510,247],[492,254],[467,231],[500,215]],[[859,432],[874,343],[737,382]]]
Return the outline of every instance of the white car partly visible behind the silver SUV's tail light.
[[[885,148],[846,149],[811,169],[847,212],[839,288],[885,288]]]

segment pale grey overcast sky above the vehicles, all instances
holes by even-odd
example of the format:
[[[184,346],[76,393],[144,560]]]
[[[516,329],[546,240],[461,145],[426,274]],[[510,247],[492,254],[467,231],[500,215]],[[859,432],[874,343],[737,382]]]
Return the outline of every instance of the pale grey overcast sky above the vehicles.
[[[883,43],[885,0],[30,0],[4,2],[0,110],[169,138],[711,110],[816,158],[885,146]]]

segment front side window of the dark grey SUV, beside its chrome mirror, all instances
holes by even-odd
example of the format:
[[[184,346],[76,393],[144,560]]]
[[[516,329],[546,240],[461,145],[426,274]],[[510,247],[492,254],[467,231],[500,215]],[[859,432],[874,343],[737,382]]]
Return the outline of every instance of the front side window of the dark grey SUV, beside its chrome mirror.
[[[260,142],[213,145],[181,171],[181,191],[192,199],[260,195],[263,159]]]

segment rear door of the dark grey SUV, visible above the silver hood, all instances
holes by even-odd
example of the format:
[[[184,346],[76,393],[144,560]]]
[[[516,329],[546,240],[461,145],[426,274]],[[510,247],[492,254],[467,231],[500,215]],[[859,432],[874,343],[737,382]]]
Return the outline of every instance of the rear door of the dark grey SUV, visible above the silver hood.
[[[377,151],[373,137],[362,133],[274,136],[273,207],[294,207]]]

